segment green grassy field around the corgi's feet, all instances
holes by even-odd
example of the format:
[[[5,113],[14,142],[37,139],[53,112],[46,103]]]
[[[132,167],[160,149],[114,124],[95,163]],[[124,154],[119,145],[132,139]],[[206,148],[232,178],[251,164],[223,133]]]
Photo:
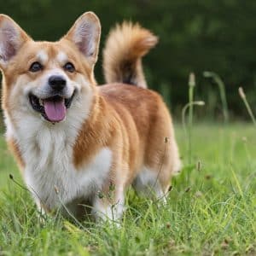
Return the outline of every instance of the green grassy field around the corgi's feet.
[[[0,255],[255,255],[255,128],[194,125],[190,166],[188,139],[176,128],[184,168],[167,205],[131,190],[119,228],[60,216],[40,224],[29,193],[9,179],[21,180],[1,136]]]

